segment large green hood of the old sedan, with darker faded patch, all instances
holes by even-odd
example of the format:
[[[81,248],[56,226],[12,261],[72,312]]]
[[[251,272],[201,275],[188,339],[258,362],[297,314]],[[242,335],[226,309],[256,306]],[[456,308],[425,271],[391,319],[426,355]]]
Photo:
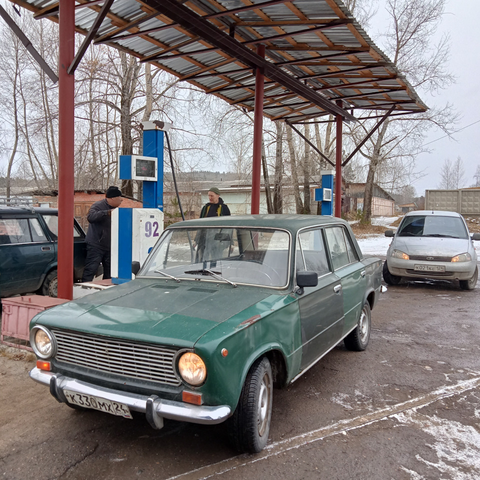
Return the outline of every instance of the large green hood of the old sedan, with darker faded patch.
[[[135,279],[45,310],[32,322],[188,348],[270,294],[240,285]]]

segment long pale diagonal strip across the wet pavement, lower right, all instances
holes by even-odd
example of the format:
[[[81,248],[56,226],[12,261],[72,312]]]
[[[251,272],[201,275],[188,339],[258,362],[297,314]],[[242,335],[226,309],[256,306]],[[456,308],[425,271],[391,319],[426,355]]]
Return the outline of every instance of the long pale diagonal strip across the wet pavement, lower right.
[[[179,475],[171,476],[167,478],[167,480],[175,480],[176,478],[182,478],[182,480],[205,480],[206,478],[210,478],[214,475],[226,473],[234,468],[255,463],[260,460],[265,460],[271,456],[278,455],[293,448],[299,448],[306,443],[321,440],[325,437],[337,435],[339,433],[345,434],[348,430],[366,426],[384,418],[397,415],[398,413],[428,405],[429,403],[432,403],[440,398],[453,396],[466,390],[476,388],[477,386],[480,386],[480,376],[460,381],[455,385],[445,385],[417,398],[411,398],[402,403],[397,403],[396,405],[375,410],[365,415],[340,420],[332,423],[331,425],[271,443],[267,445],[264,450],[254,456],[249,454],[233,456],[216,463],[211,463],[200,468],[195,468],[193,470],[180,473]],[[421,476],[418,478],[421,478]]]

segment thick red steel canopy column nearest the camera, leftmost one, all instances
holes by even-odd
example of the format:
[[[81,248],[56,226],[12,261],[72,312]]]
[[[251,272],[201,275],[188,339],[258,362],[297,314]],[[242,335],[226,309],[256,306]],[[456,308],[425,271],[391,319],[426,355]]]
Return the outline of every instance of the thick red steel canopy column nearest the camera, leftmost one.
[[[73,293],[74,75],[66,71],[75,52],[75,1],[59,2],[58,55],[58,297]]]

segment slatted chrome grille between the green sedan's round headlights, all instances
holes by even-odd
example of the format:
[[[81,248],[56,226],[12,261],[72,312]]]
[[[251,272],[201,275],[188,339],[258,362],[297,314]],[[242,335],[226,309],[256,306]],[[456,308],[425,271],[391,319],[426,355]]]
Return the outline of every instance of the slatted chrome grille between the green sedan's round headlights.
[[[51,330],[58,361],[139,380],[179,385],[172,360],[176,349],[111,337]]]

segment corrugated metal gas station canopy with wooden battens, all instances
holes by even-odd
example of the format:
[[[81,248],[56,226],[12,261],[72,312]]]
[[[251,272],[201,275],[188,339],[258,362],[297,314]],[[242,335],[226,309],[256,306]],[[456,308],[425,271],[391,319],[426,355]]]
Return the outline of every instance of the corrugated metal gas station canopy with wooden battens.
[[[12,1],[58,21],[58,1]],[[78,0],[75,27],[248,111],[260,68],[272,120],[427,109],[340,0]]]

